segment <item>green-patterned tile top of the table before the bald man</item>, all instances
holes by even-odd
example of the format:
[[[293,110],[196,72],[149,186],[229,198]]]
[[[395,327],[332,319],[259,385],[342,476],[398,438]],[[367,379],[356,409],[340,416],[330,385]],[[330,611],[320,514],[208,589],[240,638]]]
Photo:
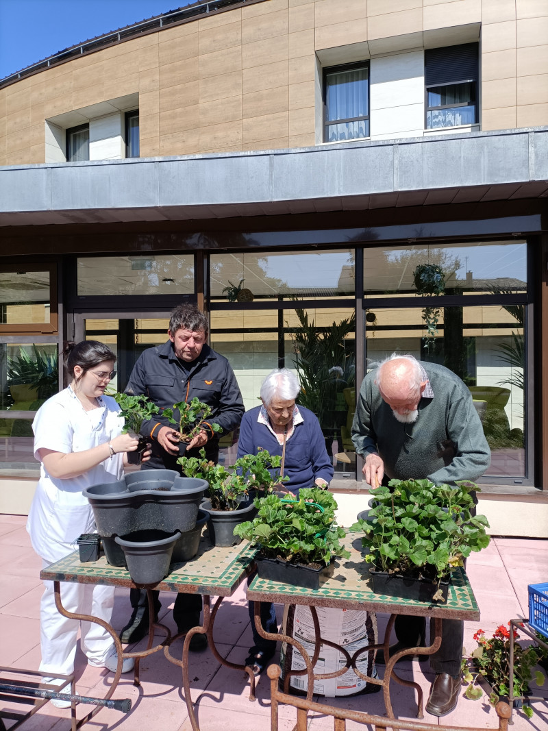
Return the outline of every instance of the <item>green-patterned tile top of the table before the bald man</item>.
[[[457,569],[453,573],[452,582],[449,584],[449,596],[443,605],[437,602],[431,604],[375,594],[370,588],[368,564],[363,561],[365,551],[362,549],[359,534],[349,533],[344,543],[351,557],[337,559],[333,576],[319,589],[291,586],[256,576],[249,586],[248,598],[259,601],[274,600],[285,604],[368,609],[448,619],[479,619],[478,605],[463,569]]]

